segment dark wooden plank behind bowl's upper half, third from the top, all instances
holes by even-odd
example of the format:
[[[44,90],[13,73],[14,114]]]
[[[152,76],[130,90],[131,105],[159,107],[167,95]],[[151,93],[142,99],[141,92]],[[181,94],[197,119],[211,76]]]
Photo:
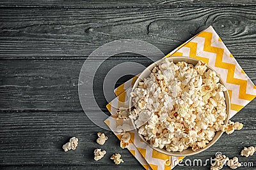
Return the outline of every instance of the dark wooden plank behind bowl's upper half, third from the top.
[[[256,83],[256,58],[237,59]],[[0,110],[82,111],[77,92],[78,78],[84,60],[0,60]],[[87,61],[88,62],[88,61]],[[95,61],[89,61],[91,67]],[[111,57],[95,74],[94,95],[100,108],[106,111],[107,101],[102,85],[108,71],[122,62],[136,62],[147,66],[145,57]],[[250,63],[250,64],[248,64]],[[90,71],[90,67],[88,70]],[[84,94],[93,99],[90,89]],[[113,93],[111,90],[109,93]],[[252,102],[256,106],[256,102]],[[88,111],[97,110],[92,105]]]

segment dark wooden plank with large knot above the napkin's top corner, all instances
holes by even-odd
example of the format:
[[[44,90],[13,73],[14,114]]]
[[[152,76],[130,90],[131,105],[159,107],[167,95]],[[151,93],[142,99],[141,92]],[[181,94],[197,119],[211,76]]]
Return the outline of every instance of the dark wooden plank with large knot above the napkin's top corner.
[[[1,8],[0,57],[76,59],[123,38],[168,53],[209,25],[235,57],[253,57],[255,14],[255,7]]]

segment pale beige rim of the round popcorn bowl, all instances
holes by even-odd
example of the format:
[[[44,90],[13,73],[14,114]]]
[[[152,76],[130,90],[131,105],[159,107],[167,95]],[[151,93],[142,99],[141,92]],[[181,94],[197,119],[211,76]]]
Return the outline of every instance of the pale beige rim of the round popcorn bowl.
[[[172,56],[172,57],[163,57],[163,59],[160,59],[160,60],[157,60],[156,62],[153,62],[152,64],[150,64],[150,66],[146,67],[141,73],[140,75],[138,76],[138,78],[136,79],[136,81],[134,82],[134,85],[132,85],[132,90],[131,92],[134,91],[134,89],[138,86],[138,83],[143,80],[143,78],[141,78],[141,76],[143,75],[143,73],[145,73],[145,71],[148,71],[151,70],[154,68],[154,66],[158,66],[159,64],[161,64],[165,59],[168,59],[169,61],[172,61],[173,59],[178,59],[180,62],[181,61],[184,61],[184,60],[193,60],[194,62],[198,62],[198,59],[195,59],[195,58],[191,58],[191,57],[184,57],[184,56]],[[188,62],[187,62],[188,63]],[[188,63],[188,64],[191,64],[191,63]],[[193,64],[194,65],[194,64]],[[195,66],[195,65],[194,65]],[[222,85],[225,86],[225,83],[223,81],[223,79],[221,78],[220,74],[218,74],[218,72],[213,69],[211,66],[209,66],[208,64],[206,64],[207,66],[207,70],[208,69],[211,69],[212,71],[215,71],[216,75],[218,76],[218,78],[220,78],[220,83]],[[226,86],[225,86],[226,87]],[[228,90],[224,92],[224,96],[225,96],[225,103],[226,103],[226,110],[227,110],[227,118],[224,120],[224,125],[227,125],[228,123],[228,120],[229,120],[229,116],[230,116],[230,96],[228,94]],[[131,108],[132,108],[132,97],[129,96],[129,111],[131,111]],[[160,153],[163,153],[165,155],[170,155],[170,156],[177,156],[177,157],[182,157],[182,156],[189,156],[189,155],[195,155],[197,153],[200,153],[200,152],[203,152],[204,150],[207,150],[208,148],[210,148],[212,145],[214,145],[214,143],[216,143],[216,141],[218,141],[218,139],[220,139],[220,137],[222,136],[223,134],[223,131],[216,131],[215,132],[215,135],[214,135],[214,138],[209,141],[209,143],[207,143],[207,146],[205,148],[200,148],[196,151],[192,151],[191,153],[183,153],[182,152],[168,152],[167,150],[164,150],[164,149],[160,149],[160,148],[156,148],[154,146],[152,146],[150,143],[148,143],[148,141],[146,141],[143,136],[141,134],[138,133],[138,129],[136,127],[136,125],[134,124],[134,119],[133,118],[130,118],[131,120],[131,123],[132,123],[132,126],[135,130],[135,135],[137,134],[140,139],[145,142],[148,146],[150,146],[150,148],[152,148],[153,150],[156,150],[157,152],[160,152]],[[218,136],[216,136],[218,134]],[[187,149],[188,150],[188,149]]]

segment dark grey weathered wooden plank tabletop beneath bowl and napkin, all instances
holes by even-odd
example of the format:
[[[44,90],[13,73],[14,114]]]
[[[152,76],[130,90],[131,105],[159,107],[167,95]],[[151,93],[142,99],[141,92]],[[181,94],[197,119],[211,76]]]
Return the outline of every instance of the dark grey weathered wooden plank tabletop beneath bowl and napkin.
[[[256,83],[255,1],[3,0],[0,7],[0,169],[143,169],[119,147],[112,132],[86,117],[79,102],[77,83],[84,61],[115,39],[147,41],[167,54],[212,25]],[[146,57],[127,53],[110,57],[97,71],[94,94],[105,113],[104,76],[127,61],[150,64]],[[211,149],[186,159],[205,161],[216,152],[234,157],[243,146],[256,146],[255,108],[253,100],[232,118],[244,124],[241,131],[223,134]],[[109,139],[101,147],[107,155],[95,162],[97,132],[105,132]],[[78,148],[63,152],[62,145],[72,136],[79,138]],[[115,152],[125,160],[120,166],[109,159]],[[240,161],[253,162],[247,169],[256,169],[255,157]],[[209,167],[208,163],[175,169]]]

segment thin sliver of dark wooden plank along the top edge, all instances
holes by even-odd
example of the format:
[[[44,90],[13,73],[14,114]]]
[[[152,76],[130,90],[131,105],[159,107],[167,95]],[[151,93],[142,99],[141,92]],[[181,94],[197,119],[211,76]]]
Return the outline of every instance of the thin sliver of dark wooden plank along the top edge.
[[[1,6],[30,6],[32,8],[35,7],[71,7],[71,8],[95,8],[95,7],[102,7],[102,8],[108,8],[108,7],[116,7],[116,8],[131,8],[131,7],[151,7],[151,6],[158,6],[158,7],[168,7],[168,6],[251,6],[255,5],[255,1],[250,1],[250,0],[234,0],[234,1],[221,1],[221,0],[210,0],[210,1],[190,1],[190,0],[182,0],[182,1],[170,1],[170,0],[141,0],[140,2],[136,0],[121,0],[121,1],[114,1],[114,0],[109,0],[109,1],[102,1],[102,0],[97,0],[97,1],[31,1],[31,0],[26,0],[26,1],[20,1],[20,0],[12,0],[12,1],[7,1],[3,0],[1,1],[0,5]]]

